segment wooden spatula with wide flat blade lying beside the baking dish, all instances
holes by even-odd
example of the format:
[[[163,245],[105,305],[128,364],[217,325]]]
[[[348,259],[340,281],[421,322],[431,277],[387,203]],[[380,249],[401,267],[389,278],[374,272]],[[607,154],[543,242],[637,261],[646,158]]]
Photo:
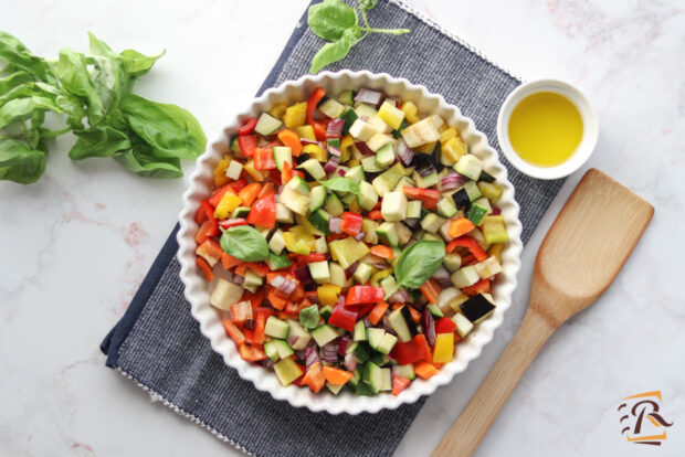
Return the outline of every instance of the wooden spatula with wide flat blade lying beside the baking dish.
[[[475,451],[545,341],[609,287],[653,214],[650,203],[607,174],[586,173],[540,246],[520,328],[433,457]]]

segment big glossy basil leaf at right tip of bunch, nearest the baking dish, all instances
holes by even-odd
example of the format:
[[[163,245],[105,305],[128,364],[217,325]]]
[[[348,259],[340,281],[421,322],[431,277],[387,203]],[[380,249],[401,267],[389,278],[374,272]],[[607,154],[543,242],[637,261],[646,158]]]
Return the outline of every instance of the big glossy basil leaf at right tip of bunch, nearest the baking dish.
[[[120,108],[130,128],[152,147],[155,157],[192,160],[204,151],[207,137],[186,109],[135,94],[126,94]]]

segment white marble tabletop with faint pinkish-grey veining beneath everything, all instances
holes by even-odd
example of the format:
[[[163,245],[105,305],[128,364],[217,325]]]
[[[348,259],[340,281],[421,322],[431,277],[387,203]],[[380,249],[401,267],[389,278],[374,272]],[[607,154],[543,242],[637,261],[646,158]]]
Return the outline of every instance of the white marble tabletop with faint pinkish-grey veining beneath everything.
[[[587,91],[601,121],[590,166],[656,209],[615,284],[550,339],[477,455],[684,455],[684,3],[412,3],[515,74],[560,76]],[[41,55],[84,50],[87,30],[117,50],[166,47],[138,91],[187,107],[213,137],[251,99],[305,4],[1,0],[0,9],[2,28]],[[74,163],[72,141],[65,136],[52,148],[38,184],[0,183],[0,455],[238,455],[151,404],[104,368],[97,349],[168,235],[183,181],[139,179],[109,161]],[[398,456],[430,453],[512,338],[537,247],[580,176],[526,248],[505,325],[429,400]],[[653,390],[675,425],[660,448],[629,444],[619,400]]]

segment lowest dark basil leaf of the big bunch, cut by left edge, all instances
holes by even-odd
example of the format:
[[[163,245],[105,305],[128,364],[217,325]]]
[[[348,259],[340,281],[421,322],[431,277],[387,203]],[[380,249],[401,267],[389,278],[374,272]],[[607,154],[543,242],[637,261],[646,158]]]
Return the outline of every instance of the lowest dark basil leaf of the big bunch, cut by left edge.
[[[30,149],[15,139],[0,140],[0,179],[30,184],[38,181],[45,170],[45,146]]]

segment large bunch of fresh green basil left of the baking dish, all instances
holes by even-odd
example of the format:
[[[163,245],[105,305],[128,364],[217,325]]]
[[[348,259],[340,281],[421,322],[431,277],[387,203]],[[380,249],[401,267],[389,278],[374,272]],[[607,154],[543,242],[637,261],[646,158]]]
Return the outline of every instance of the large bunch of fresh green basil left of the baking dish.
[[[38,181],[45,140],[68,131],[76,137],[71,159],[112,157],[150,178],[183,176],[180,159],[204,150],[207,138],[190,113],[131,93],[164,53],[116,53],[92,33],[88,39],[89,54],[65,47],[50,62],[0,31],[0,180]],[[66,126],[43,127],[48,111],[66,115]]]

